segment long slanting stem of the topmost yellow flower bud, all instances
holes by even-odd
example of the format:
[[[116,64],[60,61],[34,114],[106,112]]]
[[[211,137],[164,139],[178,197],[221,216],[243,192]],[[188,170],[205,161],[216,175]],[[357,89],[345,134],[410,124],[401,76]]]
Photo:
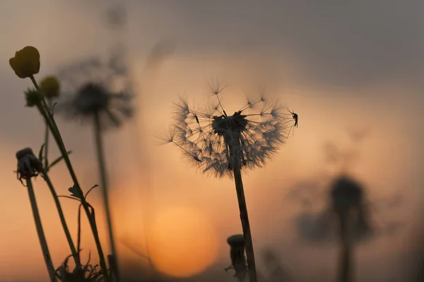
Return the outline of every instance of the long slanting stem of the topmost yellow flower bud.
[[[34,76],[31,75],[30,78],[31,78],[31,81],[33,82],[33,84],[35,86],[35,89],[38,92],[42,92],[42,90],[40,90],[40,87],[38,86],[37,81],[35,80]],[[64,141],[61,138],[59,128],[57,127],[56,121],[54,121],[53,112],[51,112],[48,109],[47,103],[45,102],[45,99],[43,99],[41,103],[37,104],[37,109],[38,109],[38,111],[40,111],[40,114],[42,114],[42,116],[45,118],[45,121],[46,121],[47,125],[49,126],[50,131],[52,132],[54,140],[56,140],[56,142],[57,142],[57,146],[59,147],[61,155],[64,157],[64,161],[65,161],[66,167],[68,168],[69,174],[71,175],[71,178],[73,180],[73,184],[76,185],[76,187],[81,190],[81,186],[78,183],[78,179],[76,178],[76,174],[73,171],[71,160],[69,159],[68,153],[66,152],[66,147],[64,145]],[[105,276],[105,281],[110,282],[110,277],[109,277],[109,274],[107,273],[105,256],[103,255],[102,245],[100,244],[100,238],[99,238],[99,235],[98,235],[97,226],[95,224],[95,221],[93,221],[93,217],[90,214],[89,204],[86,202],[85,198],[81,199],[81,204],[83,204],[83,209],[86,212],[88,221],[90,223],[91,231],[93,232],[95,245],[98,249],[100,267],[102,268],[103,275]]]

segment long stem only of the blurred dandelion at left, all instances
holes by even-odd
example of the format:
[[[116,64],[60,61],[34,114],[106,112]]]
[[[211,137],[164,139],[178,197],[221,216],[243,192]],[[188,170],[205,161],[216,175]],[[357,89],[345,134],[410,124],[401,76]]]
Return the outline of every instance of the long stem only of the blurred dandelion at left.
[[[105,214],[107,221],[107,232],[109,235],[110,250],[112,252],[112,261],[114,262],[114,270],[117,271],[115,275],[116,279],[119,282],[119,271],[118,271],[118,261],[117,261],[117,252],[114,245],[114,235],[113,235],[113,226],[112,226],[112,216],[110,215],[110,203],[109,195],[107,194],[107,176],[105,168],[105,154],[103,152],[103,142],[102,142],[102,128],[100,124],[100,117],[98,112],[94,114],[94,134],[95,134],[95,148],[97,151],[98,157],[98,166],[100,172],[100,188],[102,190],[103,204],[105,204]]]

